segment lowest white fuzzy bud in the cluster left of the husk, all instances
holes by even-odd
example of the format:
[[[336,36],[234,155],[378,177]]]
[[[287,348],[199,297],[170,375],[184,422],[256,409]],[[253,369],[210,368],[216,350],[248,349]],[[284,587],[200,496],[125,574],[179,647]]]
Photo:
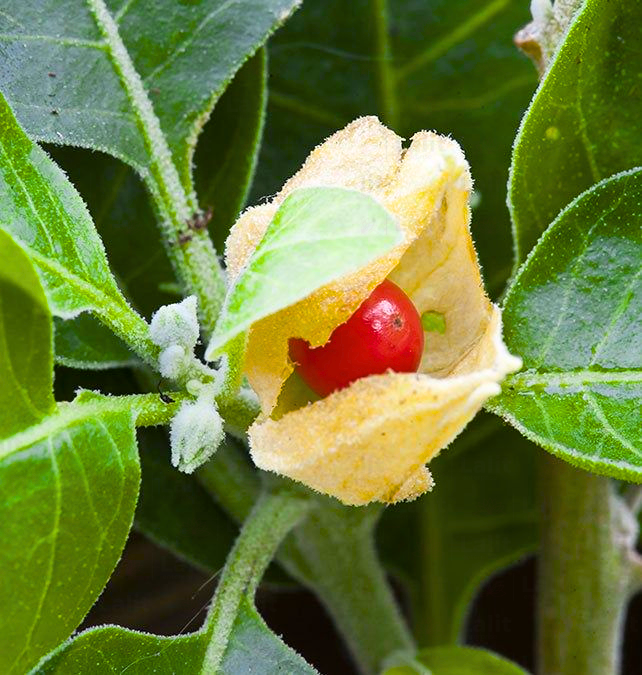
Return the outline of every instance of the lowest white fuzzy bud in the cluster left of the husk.
[[[223,420],[213,403],[205,398],[184,401],[170,426],[172,464],[192,473],[216,452],[224,436]]]

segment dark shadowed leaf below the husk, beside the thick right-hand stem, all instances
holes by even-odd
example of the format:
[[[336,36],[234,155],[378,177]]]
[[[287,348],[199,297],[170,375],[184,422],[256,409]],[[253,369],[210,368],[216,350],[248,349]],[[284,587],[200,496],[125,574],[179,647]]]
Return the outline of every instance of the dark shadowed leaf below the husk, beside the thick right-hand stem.
[[[481,585],[535,549],[535,459],[525,438],[479,415],[431,461],[435,489],[384,512],[378,542],[409,592],[420,643],[460,641]]]

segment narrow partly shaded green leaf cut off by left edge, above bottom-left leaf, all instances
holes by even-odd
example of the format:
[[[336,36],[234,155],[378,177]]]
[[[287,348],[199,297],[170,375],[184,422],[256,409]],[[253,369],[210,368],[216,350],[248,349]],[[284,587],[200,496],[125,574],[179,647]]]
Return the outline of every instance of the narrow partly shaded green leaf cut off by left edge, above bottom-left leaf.
[[[24,251],[0,230],[0,438],[55,408],[51,314]]]

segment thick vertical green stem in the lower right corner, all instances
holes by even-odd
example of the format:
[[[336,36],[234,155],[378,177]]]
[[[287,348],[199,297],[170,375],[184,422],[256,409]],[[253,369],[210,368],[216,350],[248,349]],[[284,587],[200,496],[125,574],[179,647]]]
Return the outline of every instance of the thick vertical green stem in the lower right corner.
[[[538,672],[617,675],[637,523],[613,481],[541,456]]]

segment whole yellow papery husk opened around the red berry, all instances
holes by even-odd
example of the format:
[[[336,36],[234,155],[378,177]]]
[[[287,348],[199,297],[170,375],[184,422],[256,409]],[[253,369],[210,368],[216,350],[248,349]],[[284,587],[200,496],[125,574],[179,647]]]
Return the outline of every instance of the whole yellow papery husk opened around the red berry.
[[[469,230],[472,181],[459,145],[422,131],[408,149],[376,118],[356,120],[316,148],[268,204],[247,210],[228,239],[232,279],[256,248],[280,203],[299,187],[361,190],[387,208],[404,241],[387,255],[257,322],[245,372],[262,416],[249,435],[257,466],[347,504],[412,499],[432,486],[424,465],[499,392],[520,367],[501,340],[500,310],[487,298]],[[428,333],[417,374],[362,378],[278,420],[270,419],[293,364],[288,340],[327,342],[384,279],[420,313],[445,318]]]

